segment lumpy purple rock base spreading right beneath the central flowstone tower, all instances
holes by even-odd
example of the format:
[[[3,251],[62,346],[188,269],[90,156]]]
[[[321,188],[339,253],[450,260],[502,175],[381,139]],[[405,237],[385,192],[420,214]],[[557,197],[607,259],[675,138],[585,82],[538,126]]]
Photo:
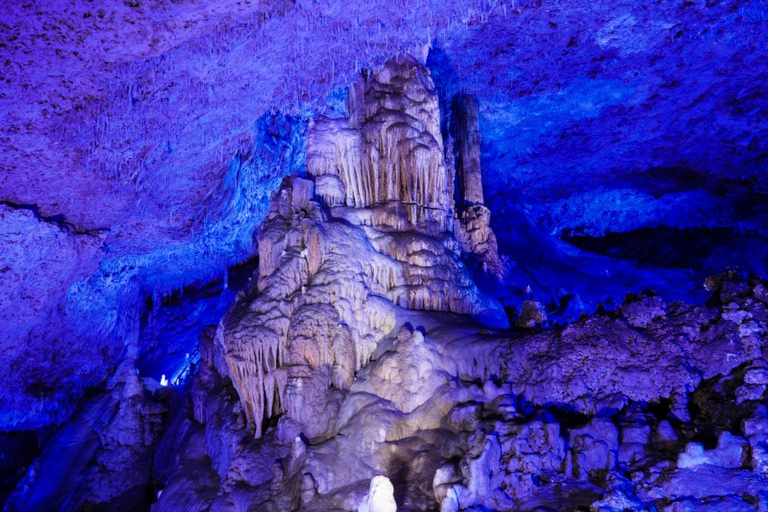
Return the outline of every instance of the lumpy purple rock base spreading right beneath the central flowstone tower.
[[[735,273],[714,282],[710,306],[655,314],[657,301],[634,296],[630,315],[516,337],[396,308],[332,433],[311,443],[290,412],[252,439],[209,339],[196,421],[181,412],[174,422],[189,433],[162,442],[197,455],[164,470],[152,510],[177,509],[184,493],[208,500],[200,510],[371,510],[391,507],[388,482],[398,510],[760,510],[765,388],[736,397],[768,384],[765,284]],[[642,308],[653,320],[639,325]]]

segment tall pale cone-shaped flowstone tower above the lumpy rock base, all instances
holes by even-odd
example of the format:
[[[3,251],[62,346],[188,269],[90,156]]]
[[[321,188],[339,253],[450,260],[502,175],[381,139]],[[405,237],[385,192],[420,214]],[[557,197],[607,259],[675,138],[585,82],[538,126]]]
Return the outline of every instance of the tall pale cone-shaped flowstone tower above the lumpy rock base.
[[[313,124],[312,179],[288,179],[273,198],[258,286],[219,329],[221,371],[257,436],[264,419],[282,412],[309,437],[327,435],[397,307],[506,324],[470,278],[452,233],[453,171],[426,70],[393,60],[351,89],[349,105],[348,119]]]

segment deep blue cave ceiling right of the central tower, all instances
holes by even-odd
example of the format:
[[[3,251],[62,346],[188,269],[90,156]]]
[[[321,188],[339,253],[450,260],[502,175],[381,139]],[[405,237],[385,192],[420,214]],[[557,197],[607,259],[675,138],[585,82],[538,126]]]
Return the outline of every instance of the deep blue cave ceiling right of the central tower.
[[[547,231],[732,226],[766,179],[767,33],[760,1],[522,1],[428,65],[479,100],[486,191]]]

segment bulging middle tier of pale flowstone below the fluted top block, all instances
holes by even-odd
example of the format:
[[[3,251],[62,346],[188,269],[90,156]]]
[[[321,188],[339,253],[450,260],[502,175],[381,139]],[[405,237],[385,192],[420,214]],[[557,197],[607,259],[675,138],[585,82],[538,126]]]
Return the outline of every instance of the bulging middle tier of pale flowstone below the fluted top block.
[[[257,435],[281,412],[310,438],[331,432],[344,392],[400,308],[505,320],[441,239],[329,219],[312,191],[311,181],[286,181],[259,240],[257,285],[217,334],[220,371]]]

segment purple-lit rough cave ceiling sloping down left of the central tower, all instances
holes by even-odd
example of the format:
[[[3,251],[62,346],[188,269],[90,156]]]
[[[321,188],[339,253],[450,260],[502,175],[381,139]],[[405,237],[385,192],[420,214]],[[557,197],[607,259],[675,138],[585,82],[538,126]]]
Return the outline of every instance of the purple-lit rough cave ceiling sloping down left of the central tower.
[[[57,291],[49,282],[48,292],[31,292],[33,309],[9,306],[4,323],[12,328],[3,343],[21,352],[15,371],[30,371],[27,347],[57,353],[50,335],[29,337],[45,321],[40,310],[66,310],[82,331],[73,336],[103,329],[110,340],[95,343],[121,345],[129,340],[114,328],[133,320],[111,317],[140,302],[138,292],[162,295],[247,259],[269,195],[283,175],[303,169],[300,162],[294,168],[300,159],[294,153],[303,150],[300,119],[361,67],[418,53],[431,34],[479,21],[491,8],[486,2],[5,4],[0,198],[10,207],[32,206],[54,227],[65,222],[75,240],[74,233],[101,240],[100,251],[78,254],[81,275],[64,279],[66,268],[52,269]],[[277,110],[298,117],[278,120],[271,116]],[[14,245],[24,252],[44,255],[55,247],[22,233]],[[15,265],[23,273],[28,264]],[[89,267],[99,271],[91,275]],[[4,277],[6,289],[19,287],[20,279]],[[0,379],[0,386],[11,380]],[[50,421],[30,411],[20,407],[3,423]]]

